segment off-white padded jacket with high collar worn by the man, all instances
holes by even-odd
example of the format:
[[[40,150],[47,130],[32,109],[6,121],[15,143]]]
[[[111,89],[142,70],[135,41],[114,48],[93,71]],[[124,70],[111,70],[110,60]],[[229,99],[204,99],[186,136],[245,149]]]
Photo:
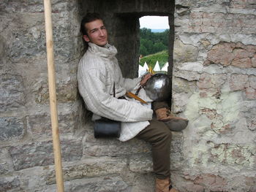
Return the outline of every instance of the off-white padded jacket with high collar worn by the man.
[[[140,78],[122,77],[116,53],[114,46],[99,47],[89,42],[89,48],[78,64],[78,88],[86,107],[94,113],[93,120],[102,116],[121,121],[119,140],[127,141],[148,126],[153,110],[138,101],[116,99],[132,91],[140,82]],[[113,97],[114,82],[116,98]]]

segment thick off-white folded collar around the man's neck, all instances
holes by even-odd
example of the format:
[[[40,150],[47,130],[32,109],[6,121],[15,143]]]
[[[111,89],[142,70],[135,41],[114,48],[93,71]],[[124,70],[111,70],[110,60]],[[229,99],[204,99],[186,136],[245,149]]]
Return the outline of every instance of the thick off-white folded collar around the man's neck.
[[[104,58],[113,58],[117,53],[116,47],[114,47],[113,45],[106,44],[104,47],[100,47],[91,42],[89,42],[88,45],[88,50],[91,53],[97,54]]]

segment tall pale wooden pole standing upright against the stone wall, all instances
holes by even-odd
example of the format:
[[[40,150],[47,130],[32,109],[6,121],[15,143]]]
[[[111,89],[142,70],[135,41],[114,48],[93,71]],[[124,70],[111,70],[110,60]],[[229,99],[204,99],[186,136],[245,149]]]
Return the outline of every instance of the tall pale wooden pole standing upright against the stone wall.
[[[61,145],[59,142],[59,123],[56,101],[56,80],[55,66],[53,55],[53,27],[51,19],[50,0],[44,0],[45,6],[45,37],[47,47],[47,64],[48,64],[48,83],[50,95],[50,120],[53,133],[53,153],[56,171],[56,185],[58,192],[64,192],[62,165],[61,165]]]

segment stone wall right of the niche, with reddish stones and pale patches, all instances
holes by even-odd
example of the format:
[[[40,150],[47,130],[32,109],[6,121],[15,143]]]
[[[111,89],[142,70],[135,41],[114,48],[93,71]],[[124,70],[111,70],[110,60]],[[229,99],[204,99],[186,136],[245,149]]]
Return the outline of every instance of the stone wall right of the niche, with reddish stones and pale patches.
[[[173,111],[189,118],[181,191],[256,191],[255,1],[176,1]]]

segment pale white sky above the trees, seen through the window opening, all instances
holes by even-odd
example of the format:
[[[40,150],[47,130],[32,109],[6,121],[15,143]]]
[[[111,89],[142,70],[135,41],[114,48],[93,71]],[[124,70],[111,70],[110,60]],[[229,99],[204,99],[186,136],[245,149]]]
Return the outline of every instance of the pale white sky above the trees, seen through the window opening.
[[[166,29],[170,28],[168,17],[145,16],[140,18],[140,28]]]

